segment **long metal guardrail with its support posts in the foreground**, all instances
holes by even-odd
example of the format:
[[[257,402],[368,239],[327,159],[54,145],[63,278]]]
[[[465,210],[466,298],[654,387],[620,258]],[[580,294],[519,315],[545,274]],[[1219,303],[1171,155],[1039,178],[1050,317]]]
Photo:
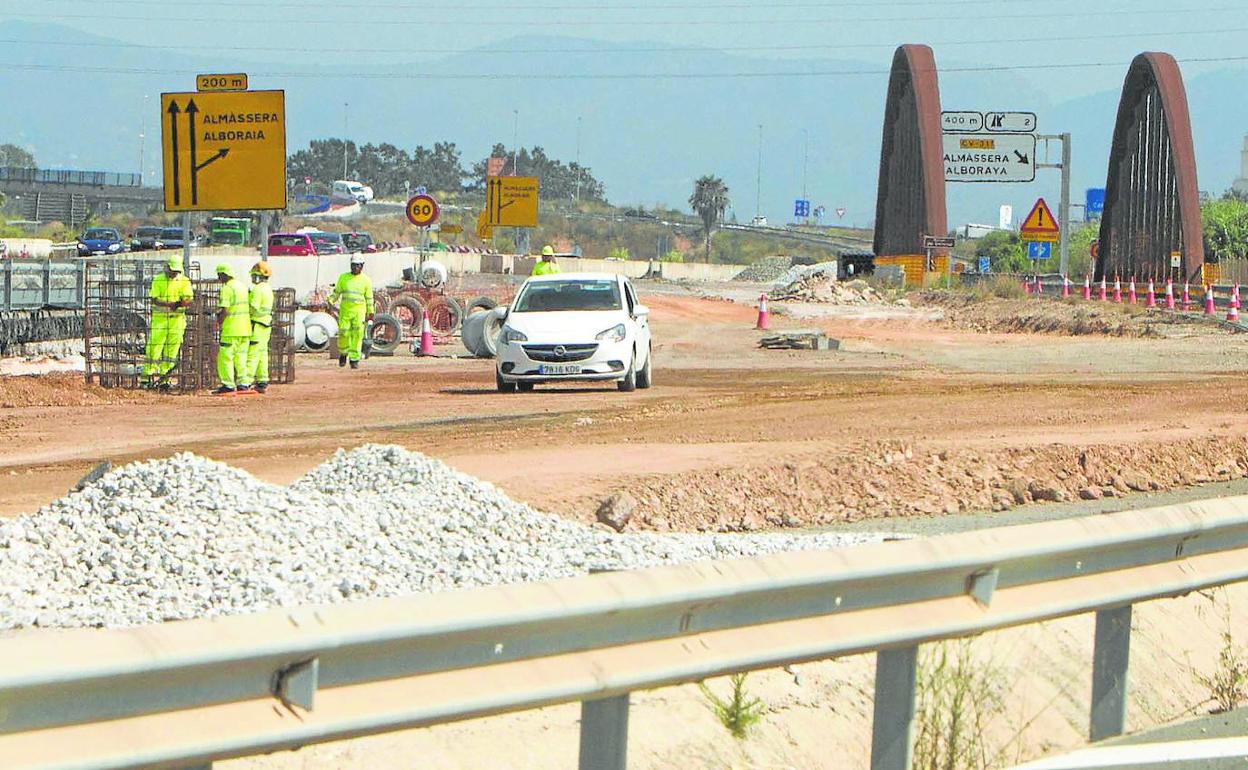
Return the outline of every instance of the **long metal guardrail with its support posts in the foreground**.
[[[1248,579],[1248,497],[129,630],[0,640],[0,766],[226,758],[582,701],[623,769],[634,690],[877,653],[874,770],[911,763],[922,643],[1097,613],[1093,740],[1122,733],[1132,604]]]

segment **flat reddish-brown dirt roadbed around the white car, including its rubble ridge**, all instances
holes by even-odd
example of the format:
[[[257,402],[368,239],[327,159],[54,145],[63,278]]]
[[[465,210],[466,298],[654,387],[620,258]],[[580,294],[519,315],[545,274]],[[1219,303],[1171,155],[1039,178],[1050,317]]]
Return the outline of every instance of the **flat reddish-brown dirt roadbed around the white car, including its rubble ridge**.
[[[0,513],[37,508],[101,459],[191,451],[287,482],[366,442],[587,520],[628,489],[640,503],[631,525],[655,529],[835,524],[1248,475],[1242,336],[987,334],[899,308],[800,322],[840,338],[837,352],[761,351],[749,306],[666,285],[643,293],[656,384],[634,394],[499,394],[490,362],[406,356],[358,372],[305,356],[298,382],[255,398],[9,378]],[[786,323],[797,324],[776,318]]]

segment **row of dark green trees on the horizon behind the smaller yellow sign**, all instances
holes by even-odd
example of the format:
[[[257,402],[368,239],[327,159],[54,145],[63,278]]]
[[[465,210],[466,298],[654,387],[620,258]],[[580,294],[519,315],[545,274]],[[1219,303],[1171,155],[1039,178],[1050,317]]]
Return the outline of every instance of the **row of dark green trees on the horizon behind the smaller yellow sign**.
[[[544,200],[585,200],[605,202],[605,188],[585,166],[565,163],[547,155],[542,147],[509,150],[498,144],[490,157],[503,158],[502,176],[535,176]],[[312,180],[323,188],[333,180],[361,181],[379,197],[393,197],[426,187],[433,192],[473,192],[485,188],[488,158],[464,167],[463,155],[454,142],[417,146],[408,152],[382,142],[357,146],[341,139],[312,140],[307,150],[287,158],[287,172],[296,188]]]

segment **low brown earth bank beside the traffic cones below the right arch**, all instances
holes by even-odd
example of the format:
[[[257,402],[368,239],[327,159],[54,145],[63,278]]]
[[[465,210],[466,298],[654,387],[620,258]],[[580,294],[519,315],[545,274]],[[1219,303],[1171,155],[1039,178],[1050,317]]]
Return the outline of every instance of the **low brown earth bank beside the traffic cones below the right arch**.
[[[1172,337],[1219,331],[1216,324],[1198,316],[1081,300],[981,298],[968,293],[929,290],[915,297],[915,305],[940,307],[945,311],[948,326],[973,332]]]

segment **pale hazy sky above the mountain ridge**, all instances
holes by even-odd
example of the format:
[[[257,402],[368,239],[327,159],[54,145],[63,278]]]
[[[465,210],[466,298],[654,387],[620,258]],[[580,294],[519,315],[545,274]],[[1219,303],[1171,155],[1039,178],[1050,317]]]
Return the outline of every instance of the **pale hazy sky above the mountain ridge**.
[[[136,44],[193,46],[188,52],[267,57],[283,71],[329,59],[344,71],[366,72],[382,61],[438,59],[534,34],[719,47],[766,59],[852,59],[881,67],[897,44],[930,42],[945,71],[1112,64],[1025,70],[1038,91],[1058,101],[1116,87],[1123,62],[1141,50],[1167,50],[1181,60],[1242,55],[1248,1],[0,0],[0,17],[51,21]],[[49,60],[60,52],[50,50]],[[585,55],[533,56],[549,62],[552,72],[575,72]],[[696,72],[700,56],[655,54],[673,72]],[[1218,66],[1242,62],[1189,61],[1184,72]]]

